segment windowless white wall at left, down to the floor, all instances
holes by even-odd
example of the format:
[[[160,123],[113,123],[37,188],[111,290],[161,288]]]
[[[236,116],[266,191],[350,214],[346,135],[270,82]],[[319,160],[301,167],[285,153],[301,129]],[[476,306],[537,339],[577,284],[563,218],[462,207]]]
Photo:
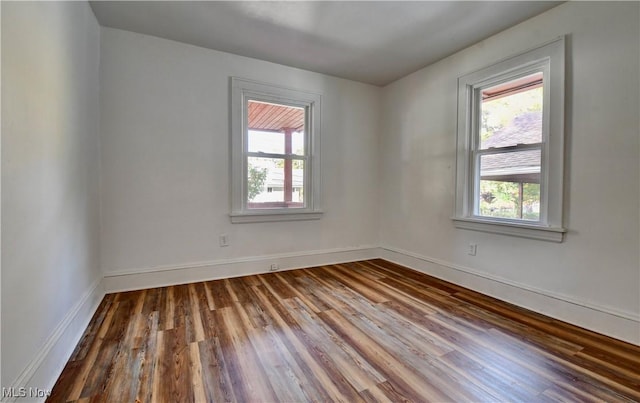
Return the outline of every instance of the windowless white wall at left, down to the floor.
[[[86,3],[2,3],[3,387],[50,388],[102,296],[99,35]]]

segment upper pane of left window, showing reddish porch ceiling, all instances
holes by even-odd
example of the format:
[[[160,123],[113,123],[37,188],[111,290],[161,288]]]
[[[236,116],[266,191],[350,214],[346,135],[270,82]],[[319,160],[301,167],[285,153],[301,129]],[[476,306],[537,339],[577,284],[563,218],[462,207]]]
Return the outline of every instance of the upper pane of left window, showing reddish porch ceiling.
[[[248,102],[248,150],[304,155],[305,108]]]

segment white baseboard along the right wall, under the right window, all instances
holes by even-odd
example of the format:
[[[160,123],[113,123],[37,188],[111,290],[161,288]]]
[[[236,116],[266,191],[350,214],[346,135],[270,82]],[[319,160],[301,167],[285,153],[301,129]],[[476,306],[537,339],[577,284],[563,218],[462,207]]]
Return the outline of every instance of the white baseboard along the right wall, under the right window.
[[[379,257],[618,340],[640,345],[640,315],[541,290],[392,247]]]

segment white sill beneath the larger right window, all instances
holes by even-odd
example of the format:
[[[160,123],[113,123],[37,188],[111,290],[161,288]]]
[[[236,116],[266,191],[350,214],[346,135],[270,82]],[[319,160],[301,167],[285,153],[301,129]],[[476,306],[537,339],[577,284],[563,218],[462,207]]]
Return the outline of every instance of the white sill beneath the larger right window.
[[[453,224],[456,228],[472,231],[490,232],[516,236],[520,238],[537,239],[549,242],[562,242],[565,228],[543,227],[539,225],[521,224],[514,222],[489,221],[478,218],[454,217]]]

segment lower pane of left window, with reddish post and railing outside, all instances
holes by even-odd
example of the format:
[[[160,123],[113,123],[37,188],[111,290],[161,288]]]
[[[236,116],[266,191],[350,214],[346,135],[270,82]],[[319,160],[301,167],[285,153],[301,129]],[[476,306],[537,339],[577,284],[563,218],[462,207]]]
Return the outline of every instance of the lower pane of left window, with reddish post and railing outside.
[[[247,207],[303,208],[304,161],[248,158]]]

